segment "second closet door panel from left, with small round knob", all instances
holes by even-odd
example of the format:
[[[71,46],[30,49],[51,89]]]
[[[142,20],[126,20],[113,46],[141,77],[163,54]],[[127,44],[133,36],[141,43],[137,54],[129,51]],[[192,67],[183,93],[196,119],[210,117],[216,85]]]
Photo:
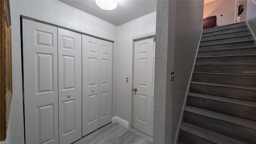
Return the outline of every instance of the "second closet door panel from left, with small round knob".
[[[82,34],[58,28],[60,144],[82,138]]]

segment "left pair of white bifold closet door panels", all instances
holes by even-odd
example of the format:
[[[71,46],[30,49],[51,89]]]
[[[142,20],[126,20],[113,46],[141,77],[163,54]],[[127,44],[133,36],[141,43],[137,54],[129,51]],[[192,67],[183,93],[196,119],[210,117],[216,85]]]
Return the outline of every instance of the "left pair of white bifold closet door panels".
[[[23,18],[22,36],[26,143],[71,144],[82,137],[82,34]]]

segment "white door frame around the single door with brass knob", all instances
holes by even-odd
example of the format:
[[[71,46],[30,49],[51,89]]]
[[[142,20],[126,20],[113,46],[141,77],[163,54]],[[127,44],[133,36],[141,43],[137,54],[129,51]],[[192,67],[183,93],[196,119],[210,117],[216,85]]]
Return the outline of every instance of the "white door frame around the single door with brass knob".
[[[140,35],[140,36],[135,36],[135,37],[132,37],[131,39],[130,39],[130,41],[131,41],[131,49],[132,49],[132,80],[131,80],[131,82],[132,82],[132,89],[131,90],[133,90],[133,88],[134,88],[134,52],[135,52],[135,41],[136,40],[140,40],[140,39],[144,39],[144,38],[150,38],[150,37],[155,37],[156,36],[156,31],[153,31],[153,32],[150,32],[150,33],[147,33],[147,34],[143,34],[143,35]],[[129,126],[128,126],[128,128],[129,129],[132,129],[133,128],[133,102],[134,101],[134,93],[133,93],[133,91],[132,91],[132,102],[131,102],[131,104],[132,104],[132,106],[131,106],[131,113],[130,113],[130,120],[129,120]]]

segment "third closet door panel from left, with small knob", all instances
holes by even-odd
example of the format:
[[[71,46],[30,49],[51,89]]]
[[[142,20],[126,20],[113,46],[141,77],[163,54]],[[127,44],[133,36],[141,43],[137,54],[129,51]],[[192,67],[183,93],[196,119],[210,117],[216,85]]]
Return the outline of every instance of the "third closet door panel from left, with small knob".
[[[82,136],[99,128],[99,43],[82,35]]]

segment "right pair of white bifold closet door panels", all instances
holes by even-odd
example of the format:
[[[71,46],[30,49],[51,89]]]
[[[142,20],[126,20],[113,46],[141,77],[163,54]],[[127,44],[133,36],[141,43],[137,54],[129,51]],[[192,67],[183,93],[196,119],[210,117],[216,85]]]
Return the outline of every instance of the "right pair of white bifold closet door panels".
[[[82,136],[112,121],[113,43],[82,35]]]

